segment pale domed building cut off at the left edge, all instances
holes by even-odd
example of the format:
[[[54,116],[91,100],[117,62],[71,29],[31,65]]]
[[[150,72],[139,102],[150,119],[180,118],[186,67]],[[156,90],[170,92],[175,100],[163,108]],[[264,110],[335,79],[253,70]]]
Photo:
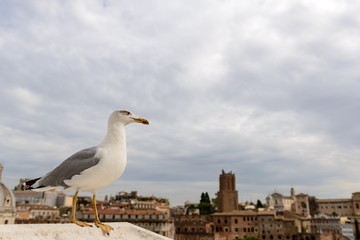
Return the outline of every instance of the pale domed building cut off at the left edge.
[[[0,224],[14,224],[16,217],[15,197],[1,182],[3,165],[0,164]]]

